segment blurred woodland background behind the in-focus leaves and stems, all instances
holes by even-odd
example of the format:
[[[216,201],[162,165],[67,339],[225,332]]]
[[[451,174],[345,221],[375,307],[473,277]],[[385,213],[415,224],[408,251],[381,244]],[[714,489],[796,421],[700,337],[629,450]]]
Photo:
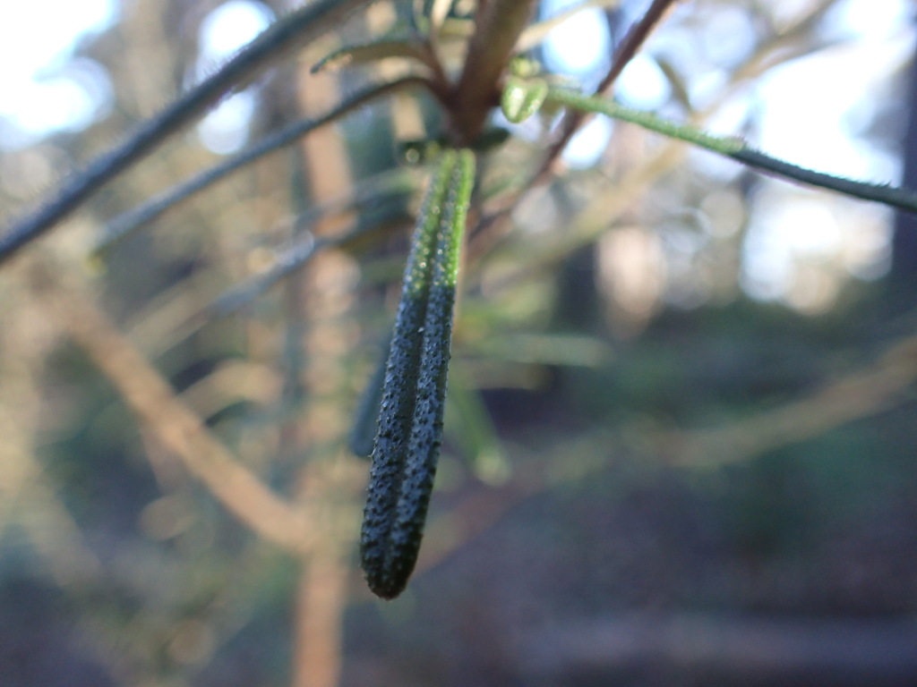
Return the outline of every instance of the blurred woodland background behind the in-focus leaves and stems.
[[[0,275],[2,682],[917,682],[906,218],[896,231],[885,208],[591,125],[503,231],[471,234],[431,518],[391,603],[356,569],[368,466],[346,438],[422,186],[395,142],[440,133],[432,102],[364,106],[89,257],[118,213],[403,73],[309,70],[409,5],[374,4],[289,56]],[[473,5],[453,9],[459,33]],[[532,55],[597,81],[647,3],[604,5]],[[834,148],[791,161],[917,180],[911,5],[889,4],[885,34],[864,5],[881,4],[679,4],[618,95],[786,155],[779,141],[830,128],[806,112],[836,89]],[[253,33],[288,8],[117,5],[60,68],[88,93],[83,120],[42,136],[0,121],[5,216],[237,49],[221,16]],[[873,62],[876,45],[894,49]],[[779,79],[807,70],[780,101]],[[525,181],[550,125],[513,127],[486,158],[475,218]],[[838,150],[857,153],[845,169]],[[237,311],[210,307],[355,225],[381,228]]]

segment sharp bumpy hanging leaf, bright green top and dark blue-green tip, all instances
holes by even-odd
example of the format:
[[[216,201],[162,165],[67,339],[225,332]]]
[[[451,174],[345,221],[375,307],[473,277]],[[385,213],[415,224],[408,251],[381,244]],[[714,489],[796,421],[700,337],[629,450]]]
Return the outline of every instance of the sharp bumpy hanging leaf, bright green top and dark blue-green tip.
[[[404,271],[360,537],[370,589],[394,598],[414,571],[442,442],[458,249],[474,154],[447,149]]]

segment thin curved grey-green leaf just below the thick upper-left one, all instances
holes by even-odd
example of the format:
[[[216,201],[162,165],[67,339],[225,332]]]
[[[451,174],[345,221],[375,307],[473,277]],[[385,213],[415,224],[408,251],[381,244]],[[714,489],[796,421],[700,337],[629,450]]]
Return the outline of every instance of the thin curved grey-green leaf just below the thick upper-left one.
[[[162,213],[165,213],[173,205],[183,202],[199,191],[204,191],[216,181],[223,179],[232,172],[240,169],[257,159],[263,158],[269,153],[274,152],[282,147],[289,146],[298,138],[305,136],[319,126],[336,121],[340,117],[357,109],[363,104],[369,103],[386,93],[394,90],[416,85],[425,85],[426,81],[422,77],[409,76],[397,81],[373,85],[354,93],[343,103],[339,104],[330,112],[323,114],[315,119],[307,119],[296,122],[282,128],[280,131],[271,134],[260,140],[252,147],[243,150],[232,158],[227,158],[224,162],[207,169],[193,179],[177,184],[168,191],[161,193],[149,202],[145,202],[138,207],[128,210],[127,213],[118,215],[105,226],[105,234],[95,245],[94,256],[102,256],[107,250],[115,245],[122,238],[131,234],[145,224],[149,224]]]

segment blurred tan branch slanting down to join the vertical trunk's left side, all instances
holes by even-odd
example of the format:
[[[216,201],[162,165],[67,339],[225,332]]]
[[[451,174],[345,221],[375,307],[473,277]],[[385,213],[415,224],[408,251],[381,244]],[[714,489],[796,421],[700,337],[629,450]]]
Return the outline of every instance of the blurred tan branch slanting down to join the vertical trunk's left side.
[[[54,318],[112,381],[151,433],[261,537],[293,553],[311,551],[314,533],[304,514],[233,458],[76,280],[50,281],[53,287],[46,296]]]

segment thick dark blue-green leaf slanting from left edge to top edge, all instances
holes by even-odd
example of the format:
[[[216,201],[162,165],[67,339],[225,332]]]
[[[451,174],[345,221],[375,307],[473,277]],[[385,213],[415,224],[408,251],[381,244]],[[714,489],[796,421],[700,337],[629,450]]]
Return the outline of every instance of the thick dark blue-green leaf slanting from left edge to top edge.
[[[282,52],[321,36],[359,7],[370,5],[372,1],[315,0],[271,25],[232,60],[226,62],[222,69],[185,93],[160,114],[143,122],[127,141],[95,158],[85,169],[74,174],[55,198],[13,224],[0,236],[0,263],[61,222],[105,183],[146,157],[168,136],[204,113],[225,93],[249,82]]]

